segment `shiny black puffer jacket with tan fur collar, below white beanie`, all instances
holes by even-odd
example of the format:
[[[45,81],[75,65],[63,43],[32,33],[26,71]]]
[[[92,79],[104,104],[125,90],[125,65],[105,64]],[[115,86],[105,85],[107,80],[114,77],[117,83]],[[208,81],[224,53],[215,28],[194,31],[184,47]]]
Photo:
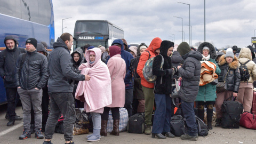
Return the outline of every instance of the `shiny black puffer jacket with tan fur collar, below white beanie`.
[[[222,55],[220,57],[220,61],[218,63],[219,67],[220,67],[220,74],[219,74],[219,82],[223,82],[224,80],[227,83],[227,90],[228,91],[233,91],[238,93],[239,90],[239,85],[240,85],[240,73],[238,72],[238,59],[235,57],[235,59],[233,60],[233,62],[231,63],[227,63],[226,59],[225,59],[225,55]],[[229,69],[230,68],[230,69]],[[229,69],[229,72],[228,72]],[[228,72],[228,74],[227,74]],[[226,77],[227,75],[227,77]],[[225,79],[226,77],[226,79]]]

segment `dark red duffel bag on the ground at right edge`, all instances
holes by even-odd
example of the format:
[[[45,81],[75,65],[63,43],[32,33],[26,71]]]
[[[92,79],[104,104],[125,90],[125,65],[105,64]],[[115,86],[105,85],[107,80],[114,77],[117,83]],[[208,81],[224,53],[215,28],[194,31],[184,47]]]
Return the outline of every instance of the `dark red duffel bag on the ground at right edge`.
[[[256,115],[245,111],[241,115],[240,125],[245,127],[246,129],[256,130]]]

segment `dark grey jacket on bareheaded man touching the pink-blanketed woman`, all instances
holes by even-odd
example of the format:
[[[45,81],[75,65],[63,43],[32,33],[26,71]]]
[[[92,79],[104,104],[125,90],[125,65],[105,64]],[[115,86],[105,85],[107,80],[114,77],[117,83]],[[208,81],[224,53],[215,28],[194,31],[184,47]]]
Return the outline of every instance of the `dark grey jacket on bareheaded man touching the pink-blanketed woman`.
[[[73,92],[71,79],[84,81],[85,76],[76,74],[72,70],[72,57],[67,45],[61,38],[53,44],[53,50],[49,56],[50,78],[48,91],[51,93]]]

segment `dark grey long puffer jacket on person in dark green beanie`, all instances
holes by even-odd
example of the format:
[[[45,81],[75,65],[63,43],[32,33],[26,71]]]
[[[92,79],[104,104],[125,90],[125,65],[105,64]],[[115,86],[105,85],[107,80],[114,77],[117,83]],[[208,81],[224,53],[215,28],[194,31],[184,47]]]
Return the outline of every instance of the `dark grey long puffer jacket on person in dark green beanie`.
[[[183,55],[182,58],[184,59],[184,62],[178,70],[182,77],[178,94],[183,101],[194,102],[199,89],[201,74],[200,60],[203,57],[198,51],[190,51]]]

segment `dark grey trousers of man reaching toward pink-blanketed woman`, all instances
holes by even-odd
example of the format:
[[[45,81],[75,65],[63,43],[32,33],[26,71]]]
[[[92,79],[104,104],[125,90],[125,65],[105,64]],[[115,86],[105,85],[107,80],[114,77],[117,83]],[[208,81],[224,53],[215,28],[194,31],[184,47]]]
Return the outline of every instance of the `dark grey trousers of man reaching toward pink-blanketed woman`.
[[[45,139],[52,139],[55,126],[61,114],[64,118],[64,138],[66,141],[73,139],[73,126],[76,121],[75,100],[72,93],[49,93],[51,110],[45,127]]]

